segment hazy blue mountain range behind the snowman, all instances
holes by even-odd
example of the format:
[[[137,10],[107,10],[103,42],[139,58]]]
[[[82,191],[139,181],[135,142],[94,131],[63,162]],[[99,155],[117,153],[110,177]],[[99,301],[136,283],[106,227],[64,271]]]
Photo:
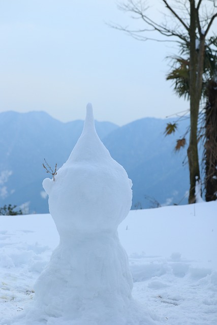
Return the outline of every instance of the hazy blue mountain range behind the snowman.
[[[187,203],[186,151],[174,152],[175,139],[164,137],[168,120],[143,118],[119,127],[96,121],[99,137],[111,156],[133,181],[132,208]],[[180,127],[180,135],[185,132]],[[15,204],[29,213],[48,212],[42,181],[49,176],[44,158],[57,168],[68,159],[83,128],[83,121],[60,122],[45,112],[0,114],[0,207]]]

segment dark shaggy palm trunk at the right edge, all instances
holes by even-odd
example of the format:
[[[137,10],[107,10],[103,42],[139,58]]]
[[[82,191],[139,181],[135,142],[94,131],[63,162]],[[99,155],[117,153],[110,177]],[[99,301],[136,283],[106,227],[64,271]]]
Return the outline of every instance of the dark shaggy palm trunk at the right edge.
[[[217,82],[207,86],[205,120],[206,201],[217,199]]]

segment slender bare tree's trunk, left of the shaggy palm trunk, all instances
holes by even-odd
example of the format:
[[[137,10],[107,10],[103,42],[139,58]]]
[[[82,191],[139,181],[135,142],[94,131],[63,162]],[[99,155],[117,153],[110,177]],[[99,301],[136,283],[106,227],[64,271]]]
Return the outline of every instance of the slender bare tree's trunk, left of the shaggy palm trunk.
[[[189,171],[190,171],[190,191],[189,203],[195,203],[196,180],[200,179],[199,157],[197,146],[197,125],[200,98],[197,89],[197,51],[196,51],[196,8],[195,0],[191,0],[191,22],[190,22],[190,117],[191,131],[188,148]],[[200,91],[201,93],[201,91]],[[198,101],[199,98],[199,101]]]

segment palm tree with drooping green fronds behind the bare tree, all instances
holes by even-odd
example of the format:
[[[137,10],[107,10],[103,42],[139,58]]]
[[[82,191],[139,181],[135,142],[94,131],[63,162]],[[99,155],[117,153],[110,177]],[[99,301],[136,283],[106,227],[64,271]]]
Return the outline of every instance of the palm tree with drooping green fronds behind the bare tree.
[[[189,48],[181,45],[181,55],[172,57],[172,70],[167,76],[167,80],[174,81],[175,92],[181,97],[190,96],[190,60]],[[210,38],[205,44],[204,66],[202,75],[202,93],[201,100],[204,107],[200,113],[200,126],[198,127],[198,142],[204,143],[203,165],[204,175],[202,176],[206,201],[216,200],[217,181],[216,160],[217,160],[217,121],[216,121],[216,71],[217,71],[217,38]],[[206,104],[205,104],[206,101]],[[181,116],[182,118],[183,116]],[[168,123],[165,134],[175,133],[177,122]],[[187,132],[188,133],[188,132]],[[186,133],[186,134],[187,134]],[[185,134],[185,136],[186,136]],[[175,149],[179,150],[186,144],[185,136],[177,140]],[[202,165],[202,166],[203,166]]]

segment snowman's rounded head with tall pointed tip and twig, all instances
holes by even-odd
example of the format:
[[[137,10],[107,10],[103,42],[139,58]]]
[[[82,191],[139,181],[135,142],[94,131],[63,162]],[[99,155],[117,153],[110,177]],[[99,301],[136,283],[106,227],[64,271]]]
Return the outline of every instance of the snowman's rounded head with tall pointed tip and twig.
[[[114,230],[128,215],[132,182],[99,139],[91,104],[83,132],[55,181],[43,182],[60,233]]]

